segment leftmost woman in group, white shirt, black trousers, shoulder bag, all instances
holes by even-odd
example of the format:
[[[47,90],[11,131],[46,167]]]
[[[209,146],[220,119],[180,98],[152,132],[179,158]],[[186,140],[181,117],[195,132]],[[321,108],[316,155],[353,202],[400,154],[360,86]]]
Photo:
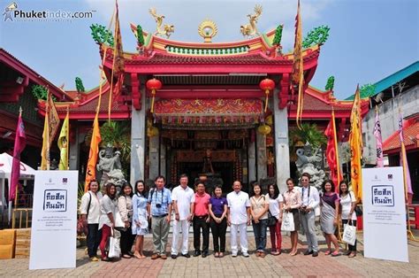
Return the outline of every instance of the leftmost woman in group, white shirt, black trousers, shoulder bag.
[[[101,231],[99,230],[99,217],[101,215],[100,201],[102,193],[99,191],[99,184],[92,180],[88,183],[88,192],[81,197],[80,214],[83,222],[88,223],[88,258],[91,261],[98,261],[96,258],[97,247],[101,242]]]

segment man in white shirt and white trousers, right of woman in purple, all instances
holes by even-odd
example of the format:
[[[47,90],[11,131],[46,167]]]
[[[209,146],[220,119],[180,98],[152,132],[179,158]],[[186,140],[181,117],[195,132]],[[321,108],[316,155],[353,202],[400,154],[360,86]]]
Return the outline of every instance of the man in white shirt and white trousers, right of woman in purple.
[[[240,247],[243,257],[248,258],[248,231],[250,225],[250,201],[248,193],[241,191],[240,181],[232,183],[232,191],[227,194],[228,216],[232,243],[232,257],[237,257],[237,233],[240,232]]]

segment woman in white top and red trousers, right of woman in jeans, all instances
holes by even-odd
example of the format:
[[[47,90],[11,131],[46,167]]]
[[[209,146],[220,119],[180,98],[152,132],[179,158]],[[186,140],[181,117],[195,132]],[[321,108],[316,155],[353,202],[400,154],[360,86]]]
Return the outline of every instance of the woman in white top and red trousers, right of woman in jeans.
[[[269,211],[272,216],[277,218],[277,224],[270,226],[270,246],[272,250],[270,253],[274,256],[278,256],[281,253],[281,224],[282,224],[282,205],[284,198],[279,194],[279,189],[276,184],[270,184],[268,188],[268,194],[266,197],[269,199]]]

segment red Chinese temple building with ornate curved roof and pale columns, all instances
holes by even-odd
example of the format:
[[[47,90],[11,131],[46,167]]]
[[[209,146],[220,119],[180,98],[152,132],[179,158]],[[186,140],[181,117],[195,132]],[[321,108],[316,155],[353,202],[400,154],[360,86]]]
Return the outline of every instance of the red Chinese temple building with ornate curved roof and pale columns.
[[[142,31],[137,25],[131,28],[138,40],[132,48],[137,50],[119,56],[124,65],[117,96],[110,89],[110,83],[113,88],[118,86],[113,73],[117,49],[107,42],[96,41],[105,73],[100,87],[64,92],[50,85],[55,89],[60,118],[64,119],[67,106],[70,108],[70,169],[80,170],[80,180],[88,160],[86,135],[101,99],[101,123],[108,120],[110,104],[110,119],[126,121],[131,127],[132,184],[140,179],[154,180],[158,174],[172,184],[178,184],[183,173],[191,177],[190,182],[200,174],[213,174],[223,180],[226,191],[235,180],[248,184],[270,178],[283,192],[286,179],[295,176],[289,132],[296,128],[297,96],[291,81],[294,56],[282,53],[278,38],[282,27],[247,34],[240,42],[211,42],[217,27],[209,20],[199,27],[203,42],[172,41],[159,27],[155,33]],[[321,90],[309,85],[323,43],[314,41],[302,51],[301,120],[324,130],[334,109],[339,142],[345,142],[352,101],[337,100],[332,87]],[[30,71],[19,74],[27,80]],[[271,89],[263,89],[267,79],[273,81]],[[25,96],[11,90],[9,94],[15,98],[0,98],[0,102],[16,105]],[[35,108],[41,123],[44,101],[39,100]],[[368,101],[362,101],[362,114],[368,110]],[[14,127],[8,130],[13,138]],[[37,138],[41,140],[40,135]]]

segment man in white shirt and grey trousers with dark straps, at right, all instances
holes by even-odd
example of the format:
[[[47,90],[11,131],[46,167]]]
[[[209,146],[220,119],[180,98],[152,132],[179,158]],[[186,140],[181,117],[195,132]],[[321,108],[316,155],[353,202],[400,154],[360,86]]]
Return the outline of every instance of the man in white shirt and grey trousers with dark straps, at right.
[[[301,175],[301,199],[302,205],[300,207],[300,216],[302,228],[307,237],[307,251],[304,255],[312,255],[313,257],[318,256],[318,243],[316,237],[316,226],[315,226],[315,209],[320,203],[320,197],[318,190],[314,186],[310,186],[310,175],[303,173]]]

